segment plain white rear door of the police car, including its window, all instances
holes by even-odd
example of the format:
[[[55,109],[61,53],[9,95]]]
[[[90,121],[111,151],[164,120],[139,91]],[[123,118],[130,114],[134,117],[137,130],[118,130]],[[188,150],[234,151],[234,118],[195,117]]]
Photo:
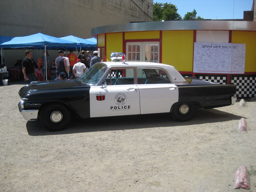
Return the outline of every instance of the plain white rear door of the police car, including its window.
[[[157,68],[137,68],[140,114],[170,112],[178,102],[179,91],[166,72]]]

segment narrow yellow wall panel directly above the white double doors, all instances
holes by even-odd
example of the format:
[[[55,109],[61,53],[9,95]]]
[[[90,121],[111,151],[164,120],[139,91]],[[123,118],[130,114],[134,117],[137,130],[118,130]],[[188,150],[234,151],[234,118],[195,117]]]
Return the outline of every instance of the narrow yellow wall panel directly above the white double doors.
[[[124,39],[159,39],[159,31],[127,32],[124,33]]]

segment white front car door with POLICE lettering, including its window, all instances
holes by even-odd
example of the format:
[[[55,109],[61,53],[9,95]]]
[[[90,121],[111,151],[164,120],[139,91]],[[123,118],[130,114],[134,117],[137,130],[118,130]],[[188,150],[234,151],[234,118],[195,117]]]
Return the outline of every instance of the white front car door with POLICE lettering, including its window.
[[[100,86],[90,88],[90,116],[140,114],[140,93],[134,84],[134,68],[111,69]]]

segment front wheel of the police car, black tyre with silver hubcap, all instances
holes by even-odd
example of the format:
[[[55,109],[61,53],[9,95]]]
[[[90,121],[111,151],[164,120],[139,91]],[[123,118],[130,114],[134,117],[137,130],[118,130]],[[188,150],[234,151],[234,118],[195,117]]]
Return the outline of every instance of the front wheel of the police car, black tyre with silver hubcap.
[[[41,113],[41,123],[49,131],[60,131],[68,126],[70,113],[61,104],[44,106]]]

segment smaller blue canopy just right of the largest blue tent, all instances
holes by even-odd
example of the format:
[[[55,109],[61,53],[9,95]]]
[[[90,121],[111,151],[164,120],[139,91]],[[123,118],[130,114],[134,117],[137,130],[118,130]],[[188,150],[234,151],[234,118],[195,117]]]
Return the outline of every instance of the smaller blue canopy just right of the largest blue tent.
[[[66,36],[66,37],[60,37],[60,39],[76,42],[76,44],[77,44],[76,47],[80,47],[80,51],[81,51],[81,48],[90,49],[90,48],[96,48],[97,47],[97,41],[95,43],[95,42],[89,41],[87,39],[82,39],[80,37],[76,37],[76,36],[72,36],[72,35]],[[74,47],[67,47],[67,48],[74,48]]]

